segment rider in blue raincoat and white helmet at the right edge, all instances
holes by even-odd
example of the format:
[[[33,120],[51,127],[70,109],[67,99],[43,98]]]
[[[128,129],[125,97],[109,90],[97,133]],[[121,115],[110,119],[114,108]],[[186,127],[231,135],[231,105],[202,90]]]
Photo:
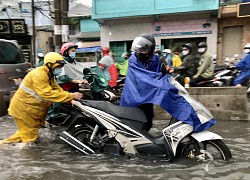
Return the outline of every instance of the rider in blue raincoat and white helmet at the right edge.
[[[236,64],[240,74],[234,79],[233,85],[237,87],[244,86],[250,79],[250,43],[245,45],[244,54],[244,58]]]

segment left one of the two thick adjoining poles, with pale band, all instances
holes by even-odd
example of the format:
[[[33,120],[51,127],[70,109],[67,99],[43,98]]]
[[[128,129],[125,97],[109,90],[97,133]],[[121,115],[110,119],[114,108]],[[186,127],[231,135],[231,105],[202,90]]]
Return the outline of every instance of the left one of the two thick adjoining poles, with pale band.
[[[54,0],[54,13],[55,13],[55,51],[60,52],[62,46],[62,26],[61,26],[61,0]]]

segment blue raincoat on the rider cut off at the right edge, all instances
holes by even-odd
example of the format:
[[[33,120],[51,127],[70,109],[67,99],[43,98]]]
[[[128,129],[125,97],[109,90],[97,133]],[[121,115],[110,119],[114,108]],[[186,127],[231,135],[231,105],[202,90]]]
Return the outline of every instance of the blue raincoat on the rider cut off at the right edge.
[[[240,60],[236,68],[240,70],[240,74],[234,79],[233,85],[243,84],[250,78],[250,54]]]

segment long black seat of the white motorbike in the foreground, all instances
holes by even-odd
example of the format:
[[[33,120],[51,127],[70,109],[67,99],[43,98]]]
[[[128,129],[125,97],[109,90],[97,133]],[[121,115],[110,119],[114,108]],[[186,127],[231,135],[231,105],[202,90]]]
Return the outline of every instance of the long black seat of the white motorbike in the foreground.
[[[84,103],[118,118],[147,122],[146,115],[137,107],[121,107],[107,101],[86,100]]]

